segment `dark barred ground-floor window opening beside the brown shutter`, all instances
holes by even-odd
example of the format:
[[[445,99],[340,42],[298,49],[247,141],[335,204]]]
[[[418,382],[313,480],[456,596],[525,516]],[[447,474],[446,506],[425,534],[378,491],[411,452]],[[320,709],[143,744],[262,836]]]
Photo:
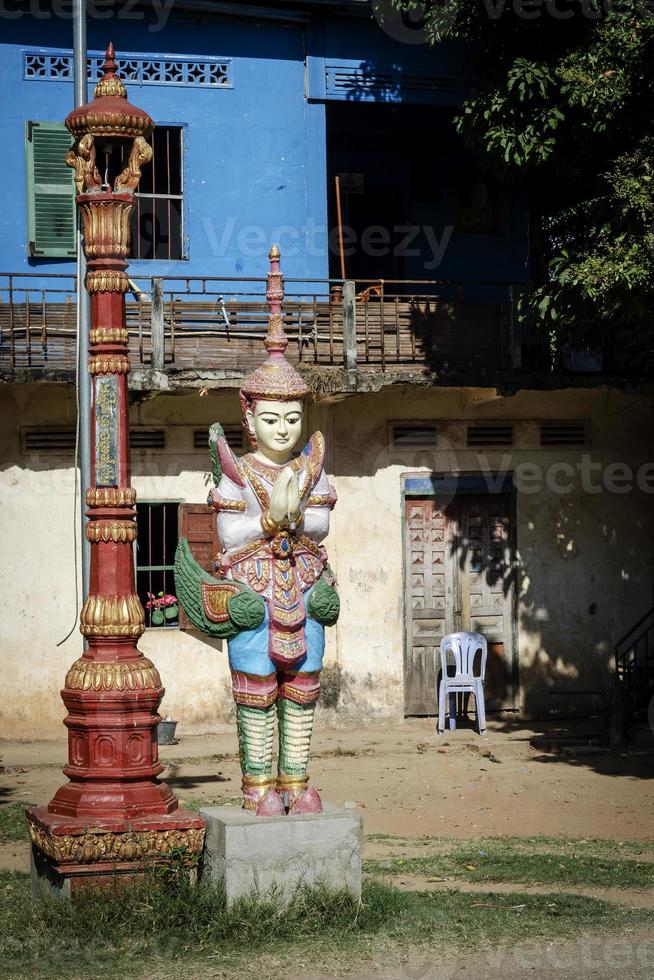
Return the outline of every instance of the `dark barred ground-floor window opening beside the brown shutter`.
[[[163,500],[136,504],[136,591],[145,610],[146,626],[163,629],[178,625],[177,617],[153,623],[153,608],[147,608],[150,595],[175,595],[175,550],[179,538],[179,503]]]

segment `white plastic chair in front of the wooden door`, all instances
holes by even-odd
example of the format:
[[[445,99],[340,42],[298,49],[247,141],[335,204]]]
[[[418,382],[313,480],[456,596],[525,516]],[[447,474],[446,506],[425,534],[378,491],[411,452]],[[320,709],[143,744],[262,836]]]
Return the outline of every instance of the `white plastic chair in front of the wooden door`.
[[[475,657],[481,650],[479,674],[474,673]],[[454,657],[454,676],[448,673],[447,655]],[[479,734],[486,731],[484,678],[488,644],[481,633],[450,633],[441,640],[441,682],[438,689],[438,734],[445,731],[445,702],[449,697],[450,729],[456,728],[457,694],[474,694]]]

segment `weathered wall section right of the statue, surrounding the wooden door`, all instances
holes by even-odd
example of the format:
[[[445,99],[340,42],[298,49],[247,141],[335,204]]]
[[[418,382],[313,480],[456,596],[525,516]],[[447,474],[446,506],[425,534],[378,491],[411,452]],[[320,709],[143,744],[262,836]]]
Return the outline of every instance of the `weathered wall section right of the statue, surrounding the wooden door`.
[[[389,450],[389,420],[405,419],[439,420],[441,448],[429,457]],[[539,419],[587,420],[591,445],[540,449]],[[462,448],[457,420],[513,420],[516,446]],[[401,477],[413,472],[516,472],[518,706],[550,715],[603,703],[594,692],[607,689],[614,645],[654,599],[651,400],[606,390],[381,392],[335,407],[330,435],[338,657],[359,711],[402,710]]]

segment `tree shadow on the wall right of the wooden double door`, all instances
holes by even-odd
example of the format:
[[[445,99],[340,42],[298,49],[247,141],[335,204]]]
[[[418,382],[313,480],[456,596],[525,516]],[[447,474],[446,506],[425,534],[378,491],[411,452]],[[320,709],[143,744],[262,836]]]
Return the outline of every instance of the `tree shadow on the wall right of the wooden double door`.
[[[640,548],[649,533],[646,518],[625,521],[624,509],[608,494],[597,512],[583,498],[543,494],[534,520],[518,523],[511,564],[486,568],[489,586],[501,582],[505,595],[515,586],[520,706],[526,716],[607,711],[615,643],[649,601]],[[465,538],[453,537],[451,555],[461,572],[470,547]]]

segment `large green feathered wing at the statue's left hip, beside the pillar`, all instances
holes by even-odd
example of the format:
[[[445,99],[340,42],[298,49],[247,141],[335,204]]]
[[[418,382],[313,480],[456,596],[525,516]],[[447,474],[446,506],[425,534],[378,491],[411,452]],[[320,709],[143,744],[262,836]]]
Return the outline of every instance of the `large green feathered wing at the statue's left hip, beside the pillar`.
[[[175,552],[175,588],[184,612],[196,629],[220,640],[230,640],[244,630],[256,629],[264,620],[266,606],[252,589],[240,583],[231,583],[232,588],[238,585],[238,595],[227,600],[229,619],[215,623],[204,611],[202,602],[202,583],[219,585],[219,579],[205,572],[197,563],[186,538],[180,538]]]

